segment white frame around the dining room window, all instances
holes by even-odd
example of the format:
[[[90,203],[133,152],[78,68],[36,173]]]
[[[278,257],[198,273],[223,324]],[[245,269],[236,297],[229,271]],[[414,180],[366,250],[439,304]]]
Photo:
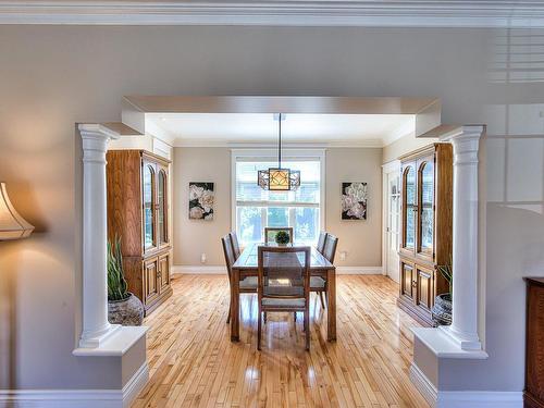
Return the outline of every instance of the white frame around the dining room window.
[[[236,231],[236,162],[237,161],[276,161],[277,150],[262,149],[231,149],[231,231]],[[320,197],[319,197],[319,228],[325,231],[325,149],[284,148],[282,149],[282,161],[310,161],[320,162]],[[257,183],[257,174],[255,175]],[[255,201],[255,206],[262,206],[262,201]],[[268,203],[268,201],[267,201]],[[277,207],[312,207],[302,202],[279,202]],[[264,215],[262,215],[264,217]],[[289,214],[290,217],[290,214]],[[293,220],[289,220],[292,222]],[[262,225],[267,220],[262,220]],[[292,223],[294,224],[294,223]]]

